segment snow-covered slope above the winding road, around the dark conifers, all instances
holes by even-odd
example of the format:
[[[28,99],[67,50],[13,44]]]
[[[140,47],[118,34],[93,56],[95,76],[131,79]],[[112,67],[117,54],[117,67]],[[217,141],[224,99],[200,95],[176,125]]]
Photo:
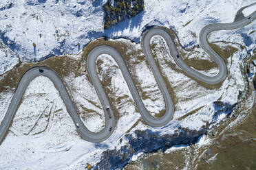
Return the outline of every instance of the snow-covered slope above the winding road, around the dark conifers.
[[[63,53],[78,53],[100,36],[139,41],[146,25],[161,25],[175,29],[181,44],[190,47],[198,44],[192,33],[198,36],[208,23],[233,21],[237,10],[253,0],[145,1],[145,12],[105,31],[104,3],[102,0],[2,0],[0,41],[21,61],[34,62]],[[10,69],[17,61],[0,58],[0,63],[6,63]],[[0,70],[8,69],[0,65]]]

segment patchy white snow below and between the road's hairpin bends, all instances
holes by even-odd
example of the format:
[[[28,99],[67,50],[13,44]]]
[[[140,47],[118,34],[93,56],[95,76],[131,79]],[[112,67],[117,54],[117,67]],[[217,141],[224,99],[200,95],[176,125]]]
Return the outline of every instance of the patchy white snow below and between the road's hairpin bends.
[[[121,39],[120,41],[129,43],[134,49],[140,48],[140,45],[131,43],[128,40]],[[158,38],[153,39],[153,42],[156,42],[157,46],[161,46],[162,44],[159,41]],[[243,43],[242,39],[241,43]],[[171,62],[171,58],[166,51],[158,50],[156,53],[162,73],[163,75],[167,75],[169,84],[173,86],[173,93],[175,93],[178,99],[178,103],[175,104],[174,119],[168,125],[164,127],[150,127],[139,121],[136,127],[133,127],[140,119],[140,114],[136,110],[136,106],[134,106],[129,88],[116,62],[110,56],[102,55],[98,58],[98,60],[104,60],[101,65],[101,71],[98,70],[100,80],[106,78],[104,75],[111,71],[112,81],[107,88],[114,91],[114,97],[126,96],[119,104],[114,101],[114,106],[118,108],[120,118],[116,121],[116,129],[110,138],[100,144],[84,141],[77,134],[74,123],[70,119],[65,105],[52,82],[46,77],[36,77],[25,91],[23,103],[19,107],[16,117],[14,117],[14,123],[10,127],[10,132],[6,140],[1,144],[0,153],[2,156],[5,156],[5,161],[1,163],[1,167],[5,167],[6,169],[15,167],[19,167],[19,169],[25,169],[27,167],[32,169],[52,169],[53,167],[56,169],[83,169],[87,162],[95,165],[100,159],[100,154],[105,149],[114,149],[114,147],[118,149],[122,145],[125,145],[127,143],[125,134],[131,127],[133,127],[129,132],[131,134],[135,130],[152,130],[152,132],[160,132],[160,134],[173,134],[179,126],[189,127],[191,130],[199,130],[206,121],[210,122],[213,117],[215,112],[212,106],[213,101],[225,96],[222,100],[233,104],[237,101],[238,90],[244,90],[242,73],[239,72],[237,66],[239,66],[239,56],[244,56],[244,53],[246,53],[245,50],[237,51],[233,57],[228,58],[227,66],[231,79],[225,80],[222,86],[215,90],[198,86],[194,80],[166,66],[167,62]],[[167,62],[164,62],[164,59]],[[158,89],[156,80],[154,80],[145,62],[139,63],[135,68],[138,80],[142,80],[140,86],[142,88],[147,86],[144,90],[151,91]],[[143,77],[148,77],[148,81],[143,80]],[[76,106],[78,106],[79,112],[83,110],[79,108],[82,104],[85,108],[92,109],[103,115],[94,87],[89,83],[86,75],[75,77],[70,74],[64,79],[67,82],[67,86],[70,89],[74,89],[72,90],[72,98]],[[158,91],[160,90],[158,89]],[[153,94],[153,96],[147,100],[143,100],[143,102],[146,105],[153,106],[155,102],[152,100],[154,99],[154,95],[156,95],[159,105],[164,106],[160,93]],[[1,93],[0,96],[4,104],[3,107],[7,108],[12,93]],[[4,99],[4,97],[8,98]],[[95,104],[92,105],[88,100],[94,101]],[[178,121],[180,117],[198,108],[200,109],[195,114]],[[162,109],[164,107],[159,108],[159,110]],[[151,107],[148,110],[152,111]],[[159,112],[159,110],[153,110],[153,112]],[[6,109],[3,109],[0,113],[0,116],[3,117]],[[41,118],[39,119],[40,116]],[[48,119],[50,119],[50,126],[46,125]],[[36,121],[38,123],[33,127]],[[90,119],[85,119],[83,122],[89,130],[97,132],[104,126],[104,116],[99,117],[98,114],[92,114]],[[122,143],[119,143],[120,138],[123,139]],[[133,156],[132,160],[136,160],[136,158],[138,156]],[[19,160],[23,160],[23,162]],[[38,165],[41,165],[41,167],[38,167]]]

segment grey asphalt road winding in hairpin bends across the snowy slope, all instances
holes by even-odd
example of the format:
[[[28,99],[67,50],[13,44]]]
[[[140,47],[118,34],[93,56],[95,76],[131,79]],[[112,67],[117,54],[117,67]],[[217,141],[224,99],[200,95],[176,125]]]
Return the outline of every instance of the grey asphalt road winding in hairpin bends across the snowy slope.
[[[72,103],[72,100],[69,94],[67,93],[67,89],[65,88],[61,78],[55,71],[45,66],[36,66],[32,69],[29,69],[23,75],[23,77],[21,77],[19,85],[17,86],[17,89],[14,92],[12,101],[6,112],[6,115],[3,118],[3,121],[1,122],[0,143],[3,141],[3,138],[6,135],[6,132],[8,131],[8,127],[10,126],[14,114],[18,109],[21,97],[23,96],[25,89],[28,87],[28,84],[30,84],[30,82],[39,75],[48,77],[54,83],[54,86],[57,88],[61,95],[61,99],[63,99],[65,106],[67,107],[67,112],[69,112],[70,117],[72,117],[72,120],[76,125],[76,129],[78,133],[82,136],[82,138],[84,138],[86,141],[94,143],[99,143],[109,138],[112,132],[114,132],[116,121],[114,118],[114,113],[111,110],[111,106],[105,94],[105,91],[103,90],[103,86],[100,84],[100,80],[96,72],[96,59],[98,58],[98,56],[100,56],[100,54],[109,54],[112,58],[114,58],[114,60],[118,64],[119,68],[122,71],[122,75],[125,78],[125,81],[127,82],[129,90],[131,91],[131,95],[133,96],[134,101],[137,104],[142,119],[146,123],[154,127],[159,127],[169,123],[169,121],[171,121],[171,119],[173,118],[174,106],[171,96],[167,90],[167,86],[164,83],[162,75],[160,74],[160,71],[158,70],[156,62],[153,59],[151,53],[149,44],[152,36],[160,35],[166,40],[167,45],[171,52],[171,56],[175,60],[176,64],[178,64],[178,66],[180,66],[180,68],[183,71],[185,71],[188,75],[191,75],[192,77],[195,77],[196,79],[208,84],[217,84],[219,82],[222,82],[222,80],[224,80],[226,77],[226,63],[217,53],[215,53],[213,49],[211,49],[207,42],[207,36],[210,32],[215,32],[217,30],[237,29],[239,27],[247,25],[256,18],[256,11],[247,17],[243,16],[242,19],[240,18],[239,21],[234,21],[233,23],[214,23],[211,25],[206,25],[200,32],[199,40],[201,47],[204,49],[204,51],[206,51],[206,53],[209,54],[209,56],[211,56],[211,58],[213,58],[213,60],[217,63],[217,66],[219,67],[220,71],[215,76],[204,75],[188,66],[180,57],[180,54],[178,53],[176,46],[173,42],[173,39],[171,38],[171,35],[169,34],[167,29],[164,29],[162,27],[153,27],[142,34],[142,49],[145,52],[145,56],[147,58],[147,61],[149,62],[153,75],[156,78],[156,82],[158,83],[161,93],[164,96],[166,112],[160,118],[155,118],[151,116],[151,114],[149,114],[149,112],[145,108],[145,105],[143,104],[140,95],[138,95],[136,86],[134,85],[134,82],[131,79],[131,75],[129,74],[129,71],[127,69],[127,66],[125,65],[124,60],[122,59],[121,54],[116,49],[114,49],[114,47],[100,45],[92,49],[92,51],[90,51],[89,55],[87,56],[87,70],[89,72],[89,77],[94,84],[94,88],[96,89],[96,93],[98,94],[100,103],[103,106],[105,112],[105,127],[100,132],[91,132],[87,129],[87,127],[85,127],[83,121],[79,117],[78,112],[74,108],[74,104]]]

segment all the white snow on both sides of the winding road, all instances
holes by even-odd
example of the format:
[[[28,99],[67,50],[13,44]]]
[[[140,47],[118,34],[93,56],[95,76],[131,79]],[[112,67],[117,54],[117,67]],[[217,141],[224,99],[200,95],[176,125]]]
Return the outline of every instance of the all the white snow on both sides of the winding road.
[[[12,7],[7,8],[11,2]],[[146,25],[173,28],[181,45],[191,48],[198,45],[199,32],[204,25],[232,22],[237,10],[253,1],[145,1],[145,12],[105,31],[101,8],[104,3],[105,1],[82,0],[1,1],[0,9],[3,6],[6,8],[0,10],[0,81],[3,74],[18,64],[19,60],[34,62],[64,53],[73,53],[70,57],[80,60],[83,47],[99,36],[119,38],[112,41],[125,42],[133,50],[141,49],[140,44],[135,42],[140,40]],[[188,23],[189,21],[191,22]],[[116,120],[114,133],[103,143],[84,141],[76,132],[54,84],[46,77],[36,77],[25,90],[10,132],[1,144],[0,158],[4,159],[0,160],[0,169],[85,169],[87,163],[96,165],[106,149],[118,149],[127,144],[125,134],[134,134],[135,130],[151,130],[160,134],[173,134],[180,126],[199,130],[213,119],[213,101],[220,99],[235,104],[239,90],[245,90],[242,73],[238,68],[241,59],[246,57],[246,50],[255,48],[255,33],[249,34],[255,29],[254,25],[255,21],[241,29],[213,32],[209,36],[209,41],[217,42],[220,46],[224,44],[219,41],[232,42],[233,44],[228,45],[239,49],[227,59],[228,79],[216,89],[201,86],[184,75],[168,51],[164,50],[165,42],[159,36],[151,40],[156,43],[158,50],[153,53],[157,55],[161,73],[167,78],[167,84],[172,89],[170,93],[174,96],[175,114],[173,120],[164,127],[150,127],[140,121],[140,114],[118,65],[110,56],[99,56],[98,60],[103,60],[102,69],[98,69],[100,80],[105,80],[108,74],[111,80],[106,87],[110,91],[108,97],[123,97],[120,102],[113,101],[120,117]],[[192,33],[195,33],[195,37]],[[248,37],[252,43],[245,40]],[[35,49],[33,42],[36,44]],[[246,49],[240,49],[239,45],[244,45]],[[167,47],[165,49],[168,50]],[[186,58],[211,61],[202,49],[195,49],[195,52]],[[136,60],[136,57],[131,56],[131,60]],[[140,82],[140,95],[141,92],[147,92],[148,95],[147,99],[143,99],[147,110],[153,115],[164,110],[163,97],[146,62],[139,62],[134,68]],[[202,72],[215,74],[217,69]],[[77,77],[70,73],[64,80],[72,89],[72,99],[86,127],[93,132],[102,130],[105,125],[104,113],[94,86],[87,79],[87,73]],[[0,93],[0,122],[10,104],[13,90]],[[92,112],[84,112],[83,108]],[[193,111],[195,113],[190,114]],[[225,114],[221,115],[218,120],[224,116]],[[207,143],[209,140],[202,136],[197,145]],[[182,147],[186,146],[174,146],[167,152]],[[141,154],[132,156],[131,160],[136,160]]]

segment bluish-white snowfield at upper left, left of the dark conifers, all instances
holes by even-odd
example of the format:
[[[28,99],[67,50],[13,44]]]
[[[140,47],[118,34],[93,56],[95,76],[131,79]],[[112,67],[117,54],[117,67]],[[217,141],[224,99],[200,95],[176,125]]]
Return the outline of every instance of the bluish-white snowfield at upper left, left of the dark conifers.
[[[101,1],[1,1],[0,37],[22,61],[38,61],[63,53],[78,53],[103,32]],[[36,47],[34,47],[35,43]]]

